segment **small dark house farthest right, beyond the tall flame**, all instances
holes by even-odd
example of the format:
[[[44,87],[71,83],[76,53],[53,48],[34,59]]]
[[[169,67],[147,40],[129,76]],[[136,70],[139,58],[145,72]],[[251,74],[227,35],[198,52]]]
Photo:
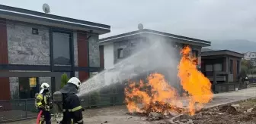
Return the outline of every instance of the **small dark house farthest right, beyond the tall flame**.
[[[235,90],[238,88],[236,82],[238,82],[243,57],[244,54],[229,50],[203,51],[201,71],[216,85],[215,91]]]

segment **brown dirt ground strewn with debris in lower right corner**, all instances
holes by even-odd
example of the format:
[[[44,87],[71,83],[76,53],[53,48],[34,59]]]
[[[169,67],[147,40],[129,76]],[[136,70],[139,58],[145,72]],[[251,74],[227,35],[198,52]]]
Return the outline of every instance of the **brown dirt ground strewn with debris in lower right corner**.
[[[253,124],[256,123],[256,99],[203,110],[194,116],[180,116],[174,121],[191,119],[194,124]]]

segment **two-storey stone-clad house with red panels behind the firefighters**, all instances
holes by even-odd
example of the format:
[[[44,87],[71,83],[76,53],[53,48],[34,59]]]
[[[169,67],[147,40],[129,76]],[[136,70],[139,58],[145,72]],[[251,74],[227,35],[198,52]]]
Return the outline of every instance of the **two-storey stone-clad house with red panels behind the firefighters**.
[[[85,81],[101,70],[98,39],[110,33],[110,26],[5,5],[0,5],[0,18],[0,76],[59,72]],[[0,100],[34,98],[42,82],[53,91],[59,88],[52,76],[10,75],[0,78]]]

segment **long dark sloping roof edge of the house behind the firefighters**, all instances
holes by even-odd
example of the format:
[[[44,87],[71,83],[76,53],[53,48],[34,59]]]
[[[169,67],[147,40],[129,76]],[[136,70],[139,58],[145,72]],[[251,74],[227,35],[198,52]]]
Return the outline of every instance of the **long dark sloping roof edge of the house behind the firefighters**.
[[[93,23],[85,20],[77,20],[5,5],[0,5],[0,17],[8,20],[18,20],[45,26],[92,31],[93,33],[99,34],[110,33],[110,26],[101,23]]]

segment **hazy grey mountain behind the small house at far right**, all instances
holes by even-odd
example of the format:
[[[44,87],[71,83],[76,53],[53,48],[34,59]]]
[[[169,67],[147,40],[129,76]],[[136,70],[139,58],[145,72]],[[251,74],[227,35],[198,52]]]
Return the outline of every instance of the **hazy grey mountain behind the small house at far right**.
[[[235,39],[226,41],[213,41],[210,48],[213,50],[230,50],[240,53],[248,51],[256,51],[256,42],[251,42],[245,39]]]

